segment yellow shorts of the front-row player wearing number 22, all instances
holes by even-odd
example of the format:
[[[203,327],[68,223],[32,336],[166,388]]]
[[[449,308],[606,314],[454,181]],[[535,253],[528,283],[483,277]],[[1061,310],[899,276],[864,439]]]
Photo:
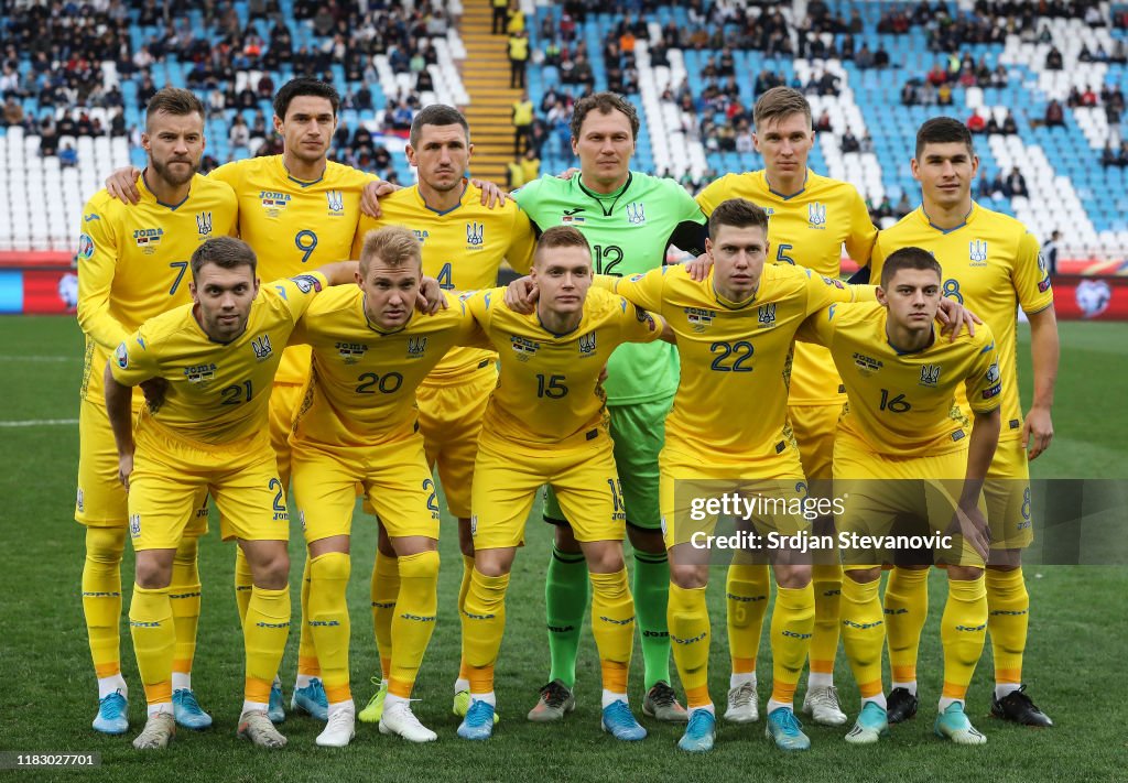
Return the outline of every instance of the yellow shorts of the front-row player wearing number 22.
[[[737,529],[766,536],[807,533],[811,522],[796,513],[807,498],[795,449],[781,452],[774,470],[747,464],[707,464],[700,456],[682,454],[667,446],[659,459],[659,505],[666,547],[680,544],[704,549],[719,517],[732,517]],[[758,475],[749,475],[758,474]],[[724,504],[739,496],[748,504]],[[732,548],[732,547],[729,547]],[[743,547],[739,547],[743,548]]]

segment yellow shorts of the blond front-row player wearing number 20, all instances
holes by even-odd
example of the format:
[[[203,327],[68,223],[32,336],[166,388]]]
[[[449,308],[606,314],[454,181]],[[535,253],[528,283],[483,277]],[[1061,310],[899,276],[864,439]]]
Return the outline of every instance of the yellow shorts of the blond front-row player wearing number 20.
[[[352,534],[356,484],[393,538],[439,538],[439,501],[418,433],[363,448],[298,441],[291,458],[293,496],[307,544]]]

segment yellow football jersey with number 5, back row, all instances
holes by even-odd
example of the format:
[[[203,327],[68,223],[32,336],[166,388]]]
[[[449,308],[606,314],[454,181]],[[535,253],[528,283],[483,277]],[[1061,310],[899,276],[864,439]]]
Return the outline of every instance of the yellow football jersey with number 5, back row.
[[[697,194],[706,215],[729,199],[747,199],[768,213],[769,257],[777,264],[799,264],[837,278],[843,245],[861,266],[870,259],[878,229],[862,195],[849,183],[808,170],[803,190],[783,196],[772,190],[767,171],[759,170],[726,174]],[[840,403],[840,388],[825,349],[810,343],[795,346],[788,392],[792,405]]]

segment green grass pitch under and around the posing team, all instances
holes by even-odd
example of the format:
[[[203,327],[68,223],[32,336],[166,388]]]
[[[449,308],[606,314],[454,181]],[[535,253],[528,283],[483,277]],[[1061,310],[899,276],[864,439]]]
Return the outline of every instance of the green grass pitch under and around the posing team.
[[[1020,366],[1030,399],[1029,331],[1020,329]],[[1128,477],[1128,408],[1123,367],[1128,326],[1063,324],[1061,369],[1055,428],[1049,452],[1034,463],[1037,477]],[[1036,701],[1056,721],[1047,731],[1023,729],[986,716],[990,687],[989,651],[985,653],[969,697],[969,713],[989,738],[982,748],[957,748],[932,734],[932,711],[940,690],[940,609],[944,586],[932,581],[933,617],[922,646],[920,714],[895,727],[892,739],[863,749],[847,747],[844,729],[808,725],[813,749],[784,756],[769,747],[763,722],[751,727],[720,723],[716,749],[706,757],[678,754],[677,727],[644,721],[651,731],[642,744],[623,745],[599,730],[599,666],[590,632],[581,652],[579,706],[561,725],[525,720],[547,675],[544,631],[544,568],[549,531],[534,519],[529,545],[519,554],[508,604],[509,621],[499,667],[497,697],[502,722],[493,740],[469,744],[455,737],[450,714],[451,683],[457,674],[458,617],[453,602],[460,562],[455,528],[443,522],[440,616],[424,660],[415,711],[439,732],[439,741],[412,746],[360,724],[352,746],[340,751],[317,748],[320,725],[290,718],[282,727],[290,745],[262,753],[235,738],[241,701],[243,645],[231,592],[233,547],[213,530],[202,546],[203,617],[194,687],[215,725],[203,733],[182,731],[164,754],[141,755],[130,739],[143,721],[144,706],[136,666],[124,632],[122,660],[131,685],[132,728],[126,737],[104,737],[90,729],[96,710],[79,598],[82,534],[72,518],[78,429],[69,424],[15,425],[30,421],[72,420],[78,415],[81,336],[73,319],[0,319],[0,362],[5,367],[0,402],[0,750],[98,751],[97,772],[26,771],[19,780],[452,780],[452,781],[721,781],[788,778],[992,780],[1032,781],[1069,775],[1077,780],[1122,778],[1123,704],[1126,703],[1122,623],[1128,606],[1123,566],[1037,566],[1028,569],[1032,597],[1031,640],[1025,678]],[[1122,512],[1118,514],[1122,518]],[[536,512],[535,512],[536,517]],[[369,614],[369,574],[374,533],[358,516],[353,543],[353,581],[349,599],[353,621],[354,696],[363,705],[372,693],[368,677],[377,667]],[[214,526],[213,526],[214,527]],[[293,573],[300,573],[301,534],[291,533]],[[711,613],[714,643],[711,687],[723,703],[728,654],[721,588],[714,574]],[[298,579],[293,584],[297,613]],[[123,583],[132,583],[132,554],[126,554]],[[129,601],[126,587],[126,606]],[[297,624],[297,617],[294,617]],[[298,634],[282,667],[289,696]],[[766,698],[770,654],[761,645],[760,697]],[[837,684],[853,719],[857,692],[841,653]],[[641,656],[635,656],[632,700],[641,709]],[[887,675],[888,683],[888,675]],[[676,684],[677,685],[677,684]],[[802,693],[802,686],[800,688]],[[89,780],[89,777],[88,777]]]

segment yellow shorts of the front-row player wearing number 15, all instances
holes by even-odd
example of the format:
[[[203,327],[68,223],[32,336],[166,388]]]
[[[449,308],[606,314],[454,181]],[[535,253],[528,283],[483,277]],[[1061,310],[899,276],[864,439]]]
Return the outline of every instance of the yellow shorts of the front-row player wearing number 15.
[[[519,546],[544,484],[556,492],[576,540],[623,540],[626,511],[606,426],[567,443],[536,447],[483,432],[470,501],[474,548]]]

